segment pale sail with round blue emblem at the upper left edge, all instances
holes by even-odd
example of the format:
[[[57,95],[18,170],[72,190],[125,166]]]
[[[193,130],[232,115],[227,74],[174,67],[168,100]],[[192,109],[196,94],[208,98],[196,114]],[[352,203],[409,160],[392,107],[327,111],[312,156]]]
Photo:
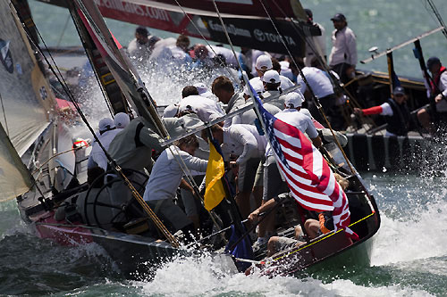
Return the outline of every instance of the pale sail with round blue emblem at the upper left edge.
[[[0,0],[0,61],[0,122],[21,156],[48,126],[55,98],[8,0]]]

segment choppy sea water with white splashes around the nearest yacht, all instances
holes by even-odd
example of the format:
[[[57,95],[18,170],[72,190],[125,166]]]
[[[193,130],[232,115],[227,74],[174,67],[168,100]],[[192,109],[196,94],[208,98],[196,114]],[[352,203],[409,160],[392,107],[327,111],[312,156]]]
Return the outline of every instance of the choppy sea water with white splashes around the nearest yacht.
[[[411,2],[411,4],[409,4]],[[438,8],[441,7],[441,1]],[[39,9],[55,12],[55,18],[64,21],[63,10],[53,6],[41,6],[30,1],[37,19],[42,17]],[[398,4],[401,4],[399,6]],[[416,6],[419,5],[419,6]],[[306,5],[305,5],[306,6]],[[368,6],[371,6],[368,8]],[[334,11],[345,12],[352,20],[355,15],[390,15],[396,7],[394,18],[378,22],[376,26],[387,28],[394,23],[401,30],[403,41],[408,30],[417,24],[408,25],[408,10],[418,11],[426,19],[424,26],[432,28],[434,22],[420,1],[309,1],[316,21],[321,16],[330,16]],[[411,6],[411,7],[410,7]],[[415,6],[415,7],[413,7]],[[419,7],[419,8],[416,8]],[[317,9],[318,8],[318,9]],[[373,10],[373,12],[371,12]],[[399,16],[399,20],[396,20]],[[360,18],[358,16],[358,18]],[[326,28],[329,22],[321,21]],[[358,21],[358,24],[362,23]],[[410,28],[404,27],[404,23]],[[116,31],[126,28],[121,23]],[[380,27],[379,26],[379,27]],[[45,26],[44,26],[45,27]],[[57,26],[53,26],[57,27]],[[127,36],[134,26],[127,27]],[[425,30],[425,27],[417,27]],[[354,28],[355,29],[355,28]],[[357,29],[358,33],[361,29]],[[121,33],[122,36],[124,33]],[[370,33],[382,36],[394,32]],[[116,34],[120,37],[119,34]],[[358,34],[359,35],[359,34]],[[54,34],[54,37],[57,33]],[[66,38],[66,37],[64,37]],[[74,37],[71,37],[73,40]],[[359,37],[360,38],[360,37]],[[364,40],[367,38],[363,37]],[[381,37],[385,38],[385,37]],[[381,39],[379,37],[376,40]],[[57,40],[57,38],[55,39]],[[426,52],[436,53],[444,46],[443,37],[438,35],[438,46],[427,48]],[[367,47],[367,45],[360,45]],[[443,53],[439,51],[439,53]],[[441,56],[440,54],[440,56]],[[445,54],[445,52],[444,52]],[[446,56],[447,59],[447,56]],[[403,59],[403,61],[406,61]],[[409,68],[409,64],[406,66]],[[170,103],[179,98],[181,87],[202,80],[209,84],[212,76],[205,72],[184,71],[178,77],[158,75],[152,70],[141,71],[149,92],[161,103]],[[213,75],[217,75],[215,72]],[[98,87],[93,83],[80,92],[89,119],[107,114],[105,103]],[[444,162],[445,158],[441,158]],[[20,218],[15,202],[0,204],[0,294],[55,296],[429,296],[447,294],[447,186],[446,173],[425,164],[418,173],[371,173],[362,172],[367,186],[375,195],[381,212],[382,226],[374,236],[372,265],[370,268],[340,268],[308,276],[278,276],[267,278],[257,274],[244,276],[228,274],[215,266],[211,258],[182,258],[160,267],[153,279],[139,276],[139,281],[124,279],[107,253],[97,244],[80,247],[64,247],[33,235]],[[347,259],[349,261],[349,259]]]

